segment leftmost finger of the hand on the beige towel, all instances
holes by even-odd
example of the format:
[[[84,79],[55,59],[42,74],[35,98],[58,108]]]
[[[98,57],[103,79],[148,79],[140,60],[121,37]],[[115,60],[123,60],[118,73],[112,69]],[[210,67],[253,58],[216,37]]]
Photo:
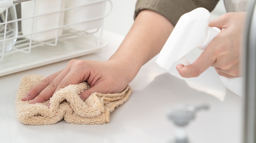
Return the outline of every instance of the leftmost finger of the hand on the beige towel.
[[[53,79],[60,73],[61,71],[55,72],[45,79],[38,82],[23,98],[22,101],[28,101],[34,99],[40,92],[47,87]]]

